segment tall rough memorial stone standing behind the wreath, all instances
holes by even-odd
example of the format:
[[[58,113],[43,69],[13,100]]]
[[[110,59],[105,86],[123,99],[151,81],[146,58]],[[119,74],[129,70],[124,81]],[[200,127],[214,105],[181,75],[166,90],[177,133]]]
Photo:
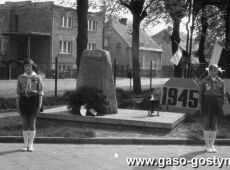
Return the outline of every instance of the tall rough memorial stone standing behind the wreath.
[[[109,102],[109,113],[117,113],[112,63],[108,51],[85,50],[81,57],[77,88],[95,87],[102,90]]]

